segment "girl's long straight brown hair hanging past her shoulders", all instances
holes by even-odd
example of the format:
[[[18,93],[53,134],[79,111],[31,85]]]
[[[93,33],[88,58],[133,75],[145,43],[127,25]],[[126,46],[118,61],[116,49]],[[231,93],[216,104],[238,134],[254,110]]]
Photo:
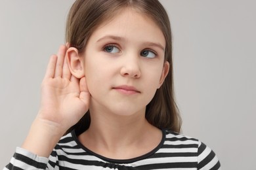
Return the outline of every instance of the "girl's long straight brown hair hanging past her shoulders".
[[[127,8],[147,16],[161,29],[165,38],[164,59],[170,66],[165,81],[146,106],[146,119],[156,127],[179,132],[181,118],[173,96],[171,27],[167,13],[158,0],[77,0],[68,16],[66,42],[83,54],[93,32]],[[89,127],[89,122],[90,114],[87,113],[72,129],[81,133]]]

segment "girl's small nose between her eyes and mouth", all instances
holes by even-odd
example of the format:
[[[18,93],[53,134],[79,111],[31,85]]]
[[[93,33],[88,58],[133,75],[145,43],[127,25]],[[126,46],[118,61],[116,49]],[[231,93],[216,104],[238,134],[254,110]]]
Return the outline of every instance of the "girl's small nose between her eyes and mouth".
[[[130,78],[139,78],[140,72],[140,60],[138,56],[123,56],[123,65],[120,70],[122,76],[127,76]]]

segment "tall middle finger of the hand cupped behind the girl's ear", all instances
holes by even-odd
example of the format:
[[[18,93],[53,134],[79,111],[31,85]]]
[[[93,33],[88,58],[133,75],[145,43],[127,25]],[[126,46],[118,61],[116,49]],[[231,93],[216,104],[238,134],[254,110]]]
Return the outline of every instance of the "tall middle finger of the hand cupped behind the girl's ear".
[[[55,77],[62,76],[62,67],[63,67],[65,54],[66,54],[66,46],[61,45],[60,48],[58,49],[58,59],[57,59],[56,68],[55,68]]]

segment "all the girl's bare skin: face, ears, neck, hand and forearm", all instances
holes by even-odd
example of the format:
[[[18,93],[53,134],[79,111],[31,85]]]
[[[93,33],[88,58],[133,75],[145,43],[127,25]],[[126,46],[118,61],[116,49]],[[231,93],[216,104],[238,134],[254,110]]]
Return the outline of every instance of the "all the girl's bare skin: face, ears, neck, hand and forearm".
[[[145,110],[169,71],[164,47],[158,25],[133,9],[102,23],[83,54],[61,46],[49,61],[41,108],[23,147],[48,157],[89,109],[91,125],[78,137],[84,146],[113,159],[150,152],[161,131],[147,122]]]

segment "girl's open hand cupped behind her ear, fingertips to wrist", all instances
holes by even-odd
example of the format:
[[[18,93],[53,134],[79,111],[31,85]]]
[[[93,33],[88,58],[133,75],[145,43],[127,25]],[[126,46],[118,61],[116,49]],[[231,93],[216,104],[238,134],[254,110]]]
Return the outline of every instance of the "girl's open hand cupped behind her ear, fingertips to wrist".
[[[90,100],[85,76],[79,79],[70,73],[66,50],[62,45],[58,56],[51,56],[41,85],[41,107],[37,116],[63,133],[87,112]]]

